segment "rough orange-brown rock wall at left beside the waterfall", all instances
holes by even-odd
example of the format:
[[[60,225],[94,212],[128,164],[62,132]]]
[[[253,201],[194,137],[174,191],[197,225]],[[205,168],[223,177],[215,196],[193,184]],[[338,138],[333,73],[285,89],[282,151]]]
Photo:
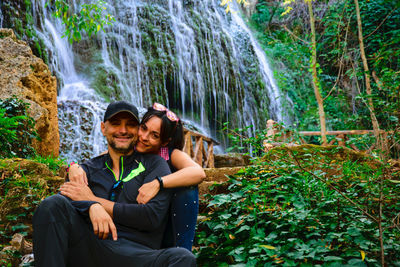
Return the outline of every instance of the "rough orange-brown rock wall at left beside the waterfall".
[[[29,113],[41,138],[33,147],[41,155],[58,156],[57,80],[11,29],[0,29],[0,98],[13,95],[30,103]]]

